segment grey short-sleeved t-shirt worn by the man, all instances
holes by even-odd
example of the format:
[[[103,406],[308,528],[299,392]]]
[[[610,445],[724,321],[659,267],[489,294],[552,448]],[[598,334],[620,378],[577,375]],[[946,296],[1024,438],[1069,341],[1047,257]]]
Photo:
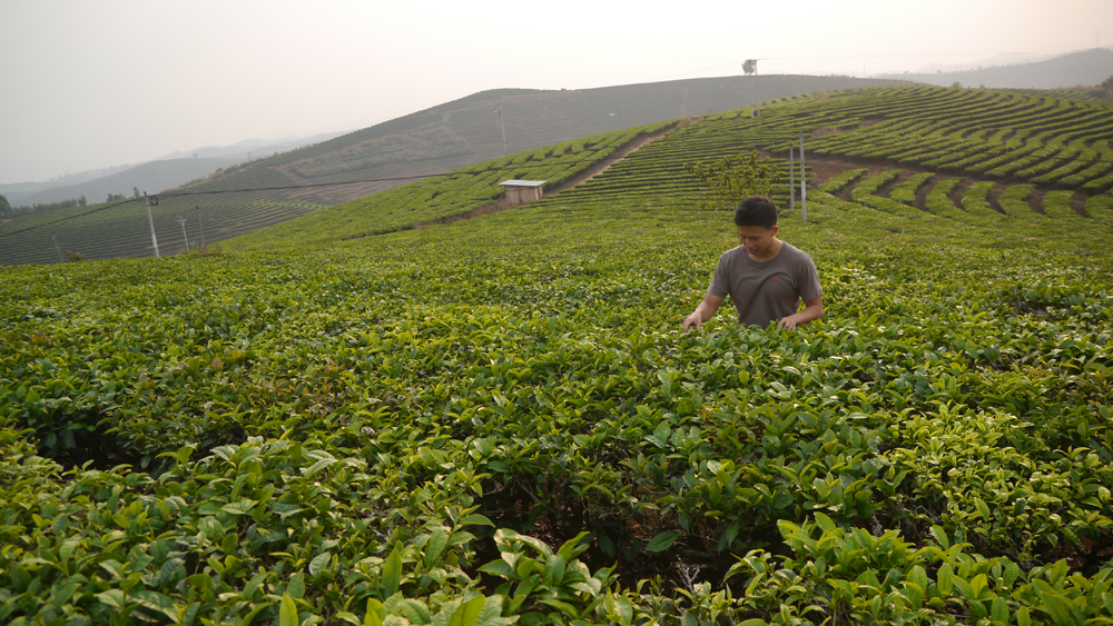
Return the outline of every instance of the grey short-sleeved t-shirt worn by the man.
[[[800,300],[821,296],[823,288],[811,257],[781,241],[777,256],[762,262],[750,259],[746,246],[723,252],[707,292],[729,295],[739,322],[765,327],[795,314]]]

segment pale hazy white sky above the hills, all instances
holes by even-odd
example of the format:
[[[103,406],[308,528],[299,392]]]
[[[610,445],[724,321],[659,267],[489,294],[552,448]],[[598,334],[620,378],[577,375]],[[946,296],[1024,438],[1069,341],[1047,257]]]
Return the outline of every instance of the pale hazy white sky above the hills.
[[[0,182],[484,89],[875,74],[1113,46],[1113,0],[0,0]]]

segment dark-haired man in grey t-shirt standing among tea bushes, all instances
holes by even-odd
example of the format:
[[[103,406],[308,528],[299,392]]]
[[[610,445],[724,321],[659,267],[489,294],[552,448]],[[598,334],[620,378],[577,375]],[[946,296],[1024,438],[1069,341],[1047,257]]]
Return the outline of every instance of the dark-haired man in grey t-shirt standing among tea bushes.
[[[715,266],[715,277],[703,301],[683,326],[702,328],[729,295],[738,321],[796,328],[824,315],[823,289],[811,257],[777,239],[777,207],[772,200],[751,196],[735,211],[741,246],[732,248]],[[797,311],[804,300],[804,310]]]

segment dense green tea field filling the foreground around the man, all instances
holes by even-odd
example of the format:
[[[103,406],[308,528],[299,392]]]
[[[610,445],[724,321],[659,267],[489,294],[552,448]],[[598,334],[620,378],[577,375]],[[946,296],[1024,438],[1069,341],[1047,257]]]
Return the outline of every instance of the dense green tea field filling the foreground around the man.
[[[836,155],[967,97],[1014,96],[717,116],[451,225],[372,235],[397,208],[364,201],[236,251],[0,268],[0,622],[1110,623],[1104,175]],[[683,332],[737,245],[683,163],[801,132],[846,145],[782,211],[824,318]],[[450,207],[424,185],[407,207]]]

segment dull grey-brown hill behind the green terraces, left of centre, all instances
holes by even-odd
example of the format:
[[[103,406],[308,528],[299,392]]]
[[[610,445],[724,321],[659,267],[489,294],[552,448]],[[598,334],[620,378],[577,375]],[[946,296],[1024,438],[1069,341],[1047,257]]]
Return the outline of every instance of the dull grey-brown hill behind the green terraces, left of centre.
[[[812,91],[902,81],[848,77],[761,76],[629,85],[584,90],[503,89],[475,93],[390,120],[315,146],[227,168],[208,180],[164,195],[154,208],[159,237],[183,249],[178,219],[188,218],[188,238],[207,242],[278,223],[316,209],[383,191],[416,178],[600,132],[684,117],[705,116]],[[502,111],[502,117],[494,112]],[[352,182],[358,181],[358,182]],[[112,192],[129,193],[135,183]],[[140,187],[156,192],[161,186]],[[100,197],[88,196],[90,200]],[[62,213],[28,217],[3,232],[36,227],[0,246],[0,265],[53,262],[53,240],[85,258],[154,255],[144,210],[99,210],[96,226],[58,221]],[[66,213],[72,216],[79,213]],[[50,231],[36,225],[50,221]],[[105,230],[101,230],[105,229]],[[146,235],[144,235],[146,233]]]

